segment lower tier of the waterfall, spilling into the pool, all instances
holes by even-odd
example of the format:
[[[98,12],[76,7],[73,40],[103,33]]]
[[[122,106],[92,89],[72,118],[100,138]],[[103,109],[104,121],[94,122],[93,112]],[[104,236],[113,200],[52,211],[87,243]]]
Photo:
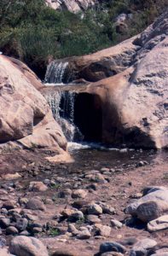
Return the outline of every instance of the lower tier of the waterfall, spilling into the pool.
[[[67,90],[55,90],[54,92],[48,91],[43,96],[49,102],[53,116],[61,125],[67,141],[82,141],[83,135],[74,125],[75,93]]]

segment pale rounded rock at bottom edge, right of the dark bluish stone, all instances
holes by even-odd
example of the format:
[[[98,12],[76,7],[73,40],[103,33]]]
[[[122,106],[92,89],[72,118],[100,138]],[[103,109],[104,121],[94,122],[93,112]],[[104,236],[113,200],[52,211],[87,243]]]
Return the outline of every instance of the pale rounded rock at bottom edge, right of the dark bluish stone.
[[[156,245],[157,242],[149,238],[137,241],[132,250],[130,251],[130,256],[148,255],[148,250],[155,247]]]

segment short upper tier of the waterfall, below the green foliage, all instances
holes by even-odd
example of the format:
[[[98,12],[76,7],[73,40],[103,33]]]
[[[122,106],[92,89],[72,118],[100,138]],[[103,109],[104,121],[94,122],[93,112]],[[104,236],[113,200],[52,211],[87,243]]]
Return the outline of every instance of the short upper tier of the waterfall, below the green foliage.
[[[51,61],[47,67],[44,83],[64,84],[69,78],[66,75],[68,62]]]

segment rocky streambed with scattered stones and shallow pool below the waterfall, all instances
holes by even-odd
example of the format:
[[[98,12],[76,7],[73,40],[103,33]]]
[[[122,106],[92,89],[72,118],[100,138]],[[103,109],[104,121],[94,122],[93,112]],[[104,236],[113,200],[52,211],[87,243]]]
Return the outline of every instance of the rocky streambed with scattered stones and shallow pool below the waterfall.
[[[0,255],[168,255],[167,153],[69,150],[0,156]]]

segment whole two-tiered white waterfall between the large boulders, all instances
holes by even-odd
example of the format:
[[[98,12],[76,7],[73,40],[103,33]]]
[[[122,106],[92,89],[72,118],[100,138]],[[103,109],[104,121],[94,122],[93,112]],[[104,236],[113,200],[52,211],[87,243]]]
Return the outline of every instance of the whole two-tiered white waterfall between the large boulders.
[[[66,85],[72,79],[73,73],[68,68],[67,61],[52,61],[47,67],[44,83],[45,85]],[[56,90],[51,90],[44,96],[49,102],[54,118],[61,125],[67,141],[81,141],[83,136],[74,125],[75,93],[61,90],[61,88],[58,86]]]

